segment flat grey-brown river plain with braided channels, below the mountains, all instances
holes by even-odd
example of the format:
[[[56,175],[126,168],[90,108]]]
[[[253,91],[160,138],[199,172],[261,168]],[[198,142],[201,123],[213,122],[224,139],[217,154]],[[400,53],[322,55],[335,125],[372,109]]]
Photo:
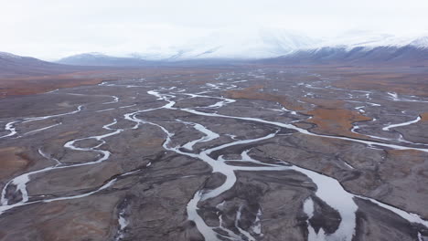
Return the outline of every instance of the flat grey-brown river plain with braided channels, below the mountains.
[[[147,69],[11,87],[0,239],[428,240],[426,71]]]

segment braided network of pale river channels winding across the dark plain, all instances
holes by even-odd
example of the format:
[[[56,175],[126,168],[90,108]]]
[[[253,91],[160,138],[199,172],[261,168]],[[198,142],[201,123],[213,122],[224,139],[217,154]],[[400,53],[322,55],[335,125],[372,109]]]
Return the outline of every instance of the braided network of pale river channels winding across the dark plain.
[[[278,121],[266,121],[266,120],[263,120],[260,118],[254,118],[251,116],[241,117],[241,116],[223,115],[223,114],[219,114],[217,111],[213,111],[213,110],[219,110],[225,107],[226,105],[231,105],[235,103],[237,100],[223,98],[218,95],[209,95],[209,93],[219,92],[227,89],[237,89],[239,82],[241,81],[235,81],[230,83],[226,82],[226,83],[220,83],[220,84],[219,83],[209,84],[206,86],[208,90],[206,89],[206,91],[203,91],[202,93],[201,92],[190,93],[190,92],[187,92],[186,89],[177,89],[175,87],[161,88],[161,89],[157,88],[157,89],[150,89],[146,91],[147,94],[153,96],[153,98],[157,102],[162,103],[162,105],[159,107],[150,108],[150,109],[131,110],[123,114],[123,116],[117,116],[110,122],[105,123],[102,126],[102,130],[103,130],[102,134],[67,141],[63,145],[65,149],[69,149],[72,151],[98,153],[97,158],[94,160],[91,160],[90,162],[65,164],[52,158],[51,153],[47,153],[44,150],[39,149],[38,150],[39,154],[43,156],[45,159],[47,159],[49,162],[51,162],[52,165],[40,170],[17,175],[16,177],[14,177],[13,179],[11,179],[9,182],[5,184],[1,192],[0,218],[2,218],[1,215],[5,214],[5,212],[11,211],[13,209],[19,208],[20,206],[24,206],[24,205],[37,204],[37,203],[50,203],[50,202],[57,202],[61,200],[67,200],[67,199],[78,199],[78,198],[82,198],[92,194],[97,194],[102,190],[106,190],[112,185],[114,185],[114,183],[116,183],[119,179],[125,178],[128,175],[137,174],[139,172],[138,170],[133,172],[128,172],[128,173],[122,173],[120,175],[115,176],[111,180],[106,180],[105,183],[103,183],[98,188],[91,190],[91,192],[75,194],[75,195],[47,197],[47,198],[33,200],[31,199],[31,196],[28,194],[28,190],[27,190],[27,184],[31,182],[32,177],[34,175],[42,175],[43,173],[48,173],[58,169],[68,169],[68,168],[79,167],[84,165],[96,165],[98,163],[108,161],[110,158],[111,152],[103,150],[102,146],[108,142],[110,137],[115,135],[120,135],[124,131],[133,131],[139,128],[143,128],[144,125],[151,125],[163,131],[163,133],[165,134],[165,141],[163,142],[163,147],[165,148],[166,151],[176,152],[177,154],[187,156],[188,158],[198,159],[201,162],[205,162],[209,164],[209,166],[212,169],[212,173],[221,173],[222,175],[225,176],[224,182],[221,183],[218,187],[213,189],[198,190],[198,192],[196,192],[193,195],[193,197],[190,199],[190,201],[187,204],[188,219],[195,222],[195,224],[198,227],[198,231],[202,234],[202,236],[205,237],[206,240],[225,240],[225,239],[226,240],[257,240],[257,237],[252,236],[251,234],[257,234],[257,232],[262,233],[262,230],[260,227],[260,222],[261,222],[260,216],[262,215],[262,210],[260,210],[260,214],[257,215],[257,218],[253,220],[253,224],[252,224],[253,230],[251,232],[250,230],[242,229],[238,221],[236,221],[236,230],[238,231],[230,230],[225,226],[222,226],[221,215],[219,215],[219,226],[210,226],[210,225],[207,225],[207,223],[205,222],[203,215],[200,215],[198,204],[200,202],[209,200],[211,198],[219,197],[221,194],[224,194],[225,192],[229,191],[237,182],[237,175],[236,175],[237,172],[294,171],[298,173],[303,173],[309,179],[311,179],[312,182],[315,183],[317,187],[315,192],[316,196],[322,201],[324,201],[326,204],[331,206],[333,209],[337,210],[337,212],[341,217],[341,221],[340,221],[340,225],[337,227],[337,230],[333,234],[326,234],[323,230],[316,233],[314,231],[314,228],[308,222],[308,239],[309,240],[348,240],[348,241],[352,240],[352,237],[354,236],[355,230],[356,230],[356,218],[357,218],[356,212],[358,210],[358,204],[355,202],[356,199],[363,199],[373,204],[377,204],[380,206],[380,208],[388,209],[391,212],[395,213],[396,215],[400,215],[402,218],[408,220],[411,223],[421,224],[428,228],[428,221],[423,220],[419,215],[408,213],[397,207],[391,206],[389,204],[381,203],[369,197],[365,197],[357,194],[351,194],[347,190],[345,190],[343,186],[339,182],[337,182],[336,179],[330,176],[326,176],[322,173],[316,173],[312,170],[308,170],[303,167],[290,164],[286,162],[287,160],[283,160],[284,162],[274,162],[274,163],[262,162],[251,157],[251,154],[250,154],[251,149],[246,149],[243,152],[241,152],[240,153],[241,159],[229,160],[229,159],[225,159],[223,155],[214,157],[214,155],[212,154],[213,152],[221,152],[233,146],[238,146],[238,145],[244,146],[246,144],[253,144],[259,141],[274,139],[282,130],[298,131],[301,134],[305,134],[308,136],[316,136],[316,137],[321,137],[326,139],[337,139],[341,141],[356,142],[359,144],[376,146],[379,148],[428,152],[428,148],[425,148],[423,145],[418,143],[412,143],[411,141],[405,141],[405,142],[399,141],[399,144],[392,144],[392,143],[383,142],[383,141],[391,141],[391,140],[389,139],[382,140],[381,138],[377,138],[376,136],[371,136],[376,141],[366,141],[366,140],[354,139],[354,138],[343,137],[343,136],[322,135],[322,134],[316,134],[316,133],[307,131],[303,128],[297,127],[293,124],[293,122],[283,123]],[[120,84],[116,85],[114,83],[109,83],[109,84],[103,83],[102,85],[100,85],[100,88],[144,89],[144,86],[120,85]],[[59,91],[56,91],[55,93],[58,93],[58,92]],[[48,93],[48,94],[55,94],[55,93]],[[75,94],[75,95],[79,95],[79,94]],[[393,94],[390,94],[390,95],[392,98],[394,98],[394,100],[397,100],[396,95],[393,95]],[[103,102],[102,105],[109,107],[109,105],[111,104],[121,102],[120,98],[116,96],[111,96],[111,98],[112,98],[112,101]],[[209,104],[207,106],[198,106],[195,108],[177,107],[177,102],[179,100],[191,100],[195,98],[216,100],[216,102]],[[137,107],[138,106],[128,105],[123,107],[112,107],[112,109],[102,109],[102,110],[107,111],[107,110],[115,110],[116,108],[137,108]],[[40,128],[34,131],[28,131],[27,133],[20,133],[19,129],[16,128],[16,126],[18,126],[20,123],[25,123],[28,121],[47,120],[50,118],[56,118],[56,117],[65,116],[65,115],[74,115],[84,110],[85,110],[85,106],[80,105],[77,107],[76,110],[72,110],[66,113],[8,121],[5,124],[6,134],[3,136],[0,136],[0,139],[16,138],[19,136],[25,137],[26,134],[35,133],[38,131],[46,131],[50,128],[55,128],[57,125],[60,124],[58,123],[55,125],[49,125],[47,127]],[[221,134],[213,130],[210,130],[207,126],[204,126],[202,123],[176,119],[173,121],[175,121],[177,124],[190,127],[194,131],[198,131],[198,133],[200,134],[199,135],[200,137],[192,139],[185,143],[180,143],[179,145],[174,145],[173,143],[176,143],[176,142],[174,141],[175,133],[173,130],[168,130],[168,128],[162,125],[161,123],[157,123],[155,121],[148,121],[144,119],[145,112],[150,112],[154,110],[175,110],[175,111],[186,112],[188,114],[200,116],[203,118],[250,121],[256,124],[270,125],[273,127],[274,131],[271,131],[266,135],[252,138],[252,139],[246,139],[246,140],[232,139],[230,142],[223,143],[217,146],[198,149],[198,148],[195,148],[195,146],[201,146],[202,144],[208,144],[209,141],[215,141],[221,137]],[[100,111],[100,110],[96,110],[96,111]],[[93,111],[93,113],[95,114],[96,111]],[[290,112],[290,114],[296,115],[296,113],[293,110],[282,109],[280,111],[287,111],[287,112]],[[391,128],[394,128],[394,127],[412,124],[419,120],[420,118],[418,117],[418,119],[414,121],[408,121],[400,124],[391,124],[385,127],[383,131],[389,131]],[[115,125],[119,121],[132,121],[134,125],[126,129],[115,128]],[[355,129],[358,129],[358,127]],[[233,133],[230,133],[230,135],[232,134]],[[91,147],[79,147],[78,143],[80,141],[88,141],[88,140],[97,141],[97,144]],[[230,162],[230,161],[233,161],[233,162]],[[236,162],[240,162],[241,164],[240,165],[233,164]],[[21,196],[21,198],[17,201],[11,198],[12,196],[16,196],[16,195]],[[308,218],[310,218],[314,212],[314,202],[312,198],[309,197],[308,199],[306,199],[305,204],[303,206],[304,206],[305,214],[308,216]],[[237,220],[241,218],[241,212],[244,212],[244,211],[243,209],[240,208],[237,214]],[[121,233],[120,233],[120,236],[118,236],[117,240],[120,240],[123,236],[126,236],[124,226],[128,225],[128,221],[124,219],[123,213],[120,214],[119,225],[120,225]],[[259,227],[257,228],[257,226]],[[222,230],[222,232],[219,232],[219,230]]]

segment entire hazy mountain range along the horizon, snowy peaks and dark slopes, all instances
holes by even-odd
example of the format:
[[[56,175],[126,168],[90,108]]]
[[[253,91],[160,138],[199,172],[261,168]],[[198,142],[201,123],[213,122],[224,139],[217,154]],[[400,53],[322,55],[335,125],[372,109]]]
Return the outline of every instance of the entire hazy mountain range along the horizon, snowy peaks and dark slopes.
[[[70,71],[71,66],[141,67],[159,65],[213,65],[270,63],[282,65],[407,65],[428,66],[428,35],[397,37],[367,31],[348,31],[336,37],[308,37],[284,29],[221,30],[187,44],[113,56],[83,53],[50,63],[0,53],[0,72],[14,73],[26,66],[27,74],[47,68]]]

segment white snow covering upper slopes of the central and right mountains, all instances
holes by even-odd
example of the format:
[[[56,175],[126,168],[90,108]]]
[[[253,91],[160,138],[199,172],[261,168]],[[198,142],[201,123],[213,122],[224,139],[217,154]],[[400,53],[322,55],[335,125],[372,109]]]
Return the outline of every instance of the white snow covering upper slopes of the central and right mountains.
[[[144,60],[182,60],[203,58],[258,59],[276,58],[298,50],[320,49],[322,47],[426,47],[428,33],[415,36],[395,36],[369,31],[348,31],[333,37],[309,37],[303,33],[283,28],[223,28],[208,35],[176,45],[171,39],[170,46],[135,49],[115,57],[140,58]],[[110,55],[109,53],[106,53]],[[100,53],[90,53],[102,57]]]

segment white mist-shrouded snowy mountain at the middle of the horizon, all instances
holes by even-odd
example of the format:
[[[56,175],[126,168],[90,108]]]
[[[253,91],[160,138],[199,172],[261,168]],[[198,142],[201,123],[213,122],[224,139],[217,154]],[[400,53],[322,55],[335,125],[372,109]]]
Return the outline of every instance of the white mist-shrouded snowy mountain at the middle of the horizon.
[[[316,46],[315,38],[284,29],[219,30],[176,47],[170,59],[273,58]]]

